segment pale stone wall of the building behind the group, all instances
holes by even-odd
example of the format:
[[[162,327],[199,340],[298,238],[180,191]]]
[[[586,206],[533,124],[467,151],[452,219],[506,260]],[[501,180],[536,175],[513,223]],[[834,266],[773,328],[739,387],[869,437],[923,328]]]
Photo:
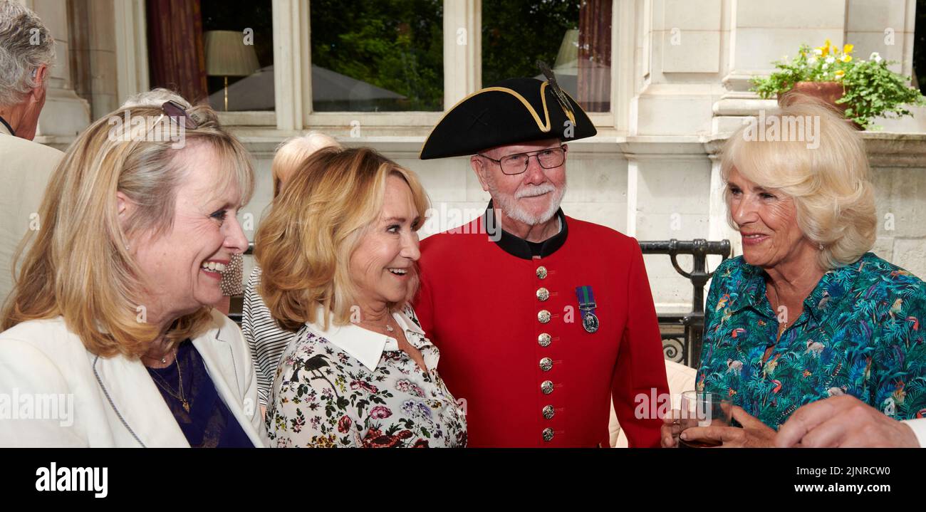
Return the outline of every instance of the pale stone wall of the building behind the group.
[[[448,0],[448,5],[457,9],[466,2],[478,14],[479,1]],[[146,89],[144,2],[23,2],[43,17],[58,44],[58,66],[37,140],[66,148],[90,119]],[[726,221],[716,153],[745,117],[774,106],[748,91],[749,78],[768,73],[772,60],[793,55],[801,43],[830,39],[832,44],[855,44],[857,58],[879,52],[899,61],[897,70],[909,74],[912,69],[915,0],[615,2],[613,116],[596,115],[604,123],[599,136],[569,144],[569,191],[563,209],[639,240],[727,238],[734,254],[740,254],[738,236]],[[281,8],[274,21],[275,40],[310,39],[301,18],[307,11],[305,0],[275,0],[274,6]],[[478,33],[478,15],[467,19],[469,29]],[[225,118],[239,125],[233,130],[256,161],[257,192],[242,217],[249,237],[269,204],[273,151],[299,133],[294,127],[300,126],[329,131],[344,144],[372,146],[418,172],[437,211],[456,214],[436,228],[452,227],[457,219],[462,223],[482,212],[488,195],[466,158],[417,158],[439,118],[436,113],[369,117],[365,136],[352,138],[354,114],[307,117],[310,102],[300,95],[307,76],[302,69],[284,69],[284,63],[304,62],[306,48],[278,46],[282,54],[275,61],[282,74],[276,114],[230,113]],[[476,44],[454,47],[445,55],[445,73],[455,66],[475,66],[478,54]],[[446,99],[475,87],[478,73],[467,77],[454,81]],[[884,131],[864,137],[878,196],[875,252],[926,277],[926,109],[915,113],[913,119],[879,120]],[[323,119],[323,125],[306,119]],[[645,262],[657,308],[690,309],[691,286],[671,268],[668,256],[645,256]],[[709,263],[717,262],[714,258]],[[682,258],[681,264],[689,268],[690,260]]]

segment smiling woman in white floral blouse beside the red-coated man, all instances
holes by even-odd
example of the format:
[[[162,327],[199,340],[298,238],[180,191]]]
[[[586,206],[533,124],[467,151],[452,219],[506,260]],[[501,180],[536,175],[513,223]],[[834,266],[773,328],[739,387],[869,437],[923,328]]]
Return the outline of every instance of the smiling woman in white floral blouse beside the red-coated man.
[[[269,397],[271,445],[465,446],[466,416],[407,306],[418,178],[368,148],[310,156],[257,231],[259,292],[295,331]]]

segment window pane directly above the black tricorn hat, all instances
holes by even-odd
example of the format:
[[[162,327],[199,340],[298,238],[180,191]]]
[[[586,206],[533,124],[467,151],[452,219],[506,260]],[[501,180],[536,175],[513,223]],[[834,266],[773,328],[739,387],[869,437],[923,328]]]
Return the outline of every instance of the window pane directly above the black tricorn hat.
[[[589,112],[611,108],[612,0],[483,0],[482,85],[517,77],[557,82]]]

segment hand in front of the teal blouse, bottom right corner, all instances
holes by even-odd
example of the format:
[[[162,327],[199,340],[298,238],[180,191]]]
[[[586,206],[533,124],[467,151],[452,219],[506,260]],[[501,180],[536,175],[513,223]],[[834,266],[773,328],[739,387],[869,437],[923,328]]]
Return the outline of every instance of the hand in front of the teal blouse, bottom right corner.
[[[797,409],[775,437],[782,448],[888,447],[918,448],[916,434],[906,424],[854,396],[832,396]]]

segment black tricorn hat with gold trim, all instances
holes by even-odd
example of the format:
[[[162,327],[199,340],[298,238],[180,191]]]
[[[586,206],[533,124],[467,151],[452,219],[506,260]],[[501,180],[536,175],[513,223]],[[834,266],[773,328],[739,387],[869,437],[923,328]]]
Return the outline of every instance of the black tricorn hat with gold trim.
[[[560,91],[549,81],[516,78],[469,94],[437,122],[419,158],[468,156],[498,145],[594,136],[598,131],[582,107]]]

